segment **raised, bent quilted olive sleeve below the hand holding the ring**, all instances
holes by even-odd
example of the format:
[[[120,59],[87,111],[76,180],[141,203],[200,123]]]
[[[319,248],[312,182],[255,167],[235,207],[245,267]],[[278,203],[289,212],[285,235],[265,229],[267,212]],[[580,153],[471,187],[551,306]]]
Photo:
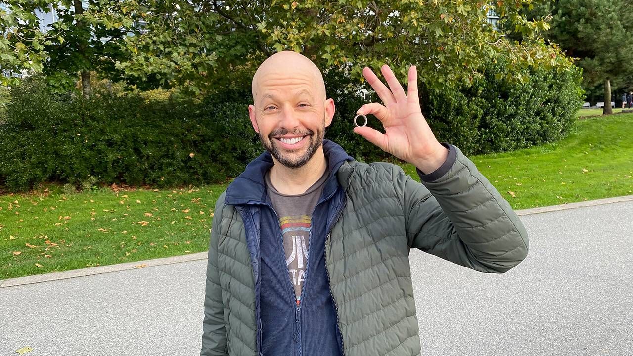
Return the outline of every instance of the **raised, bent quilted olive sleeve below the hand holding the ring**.
[[[503,273],[527,255],[525,227],[459,148],[422,184],[394,167],[409,246],[480,272]],[[439,173],[439,174],[438,174]]]

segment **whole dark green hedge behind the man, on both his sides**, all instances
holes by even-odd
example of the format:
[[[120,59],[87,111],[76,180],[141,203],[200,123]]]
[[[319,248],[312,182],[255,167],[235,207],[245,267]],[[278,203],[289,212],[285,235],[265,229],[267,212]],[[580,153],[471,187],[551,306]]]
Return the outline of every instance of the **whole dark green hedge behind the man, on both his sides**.
[[[469,87],[429,92],[420,102],[440,141],[467,155],[509,151],[561,139],[580,106],[579,70],[532,70],[528,82],[506,77],[499,63]],[[346,75],[325,73],[336,113],[325,137],[357,160],[389,158],[353,132],[366,101]],[[0,187],[30,189],[45,181],[91,186],[180,186],[226,181],[262,151],[248,119],[248,92],[193,101],[172,95],[113,94],[90,99],[55,94],[44,80],[24,80],[11,91],[0,122]],[[370,116],[368,125],[380,128]],[[83,184],[82,184],[83,183]]]

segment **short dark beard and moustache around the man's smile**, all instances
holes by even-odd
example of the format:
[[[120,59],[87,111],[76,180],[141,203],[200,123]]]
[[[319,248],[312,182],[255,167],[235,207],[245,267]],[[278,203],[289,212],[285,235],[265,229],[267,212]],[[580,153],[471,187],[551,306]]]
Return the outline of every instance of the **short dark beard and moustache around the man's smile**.
[[[274,143],[275,141],[273,141],[274,140],[273,137],[284,136],[289,133],[292,133],[293,135],[296,135],[296,136],[306,136],[304,137],[304,139],[310,140],[310,143],[308,144],[308,148],[306,149],[305,153],[299,156],[298,158],[292,159],[289,154],[286,154],[284,156],[281,149],[277,146],[277,144]],[[315,132],[310,129],[305,130],[305,131],[294,130],[292,132],[287,129],[275,130],[273,132],[270,132],[270,134],[268,134],[268,140],[265,140],[264,137],[262,137],[261,134],[259,134],[261,145],[264,146],[266,151],[268,151],[268,153],[270,153],[273,157],[275,157],[279,161],[279,163],[281,163],[282,165],[288,168],[299,168],[299,167],[303,167],[303,165],[308,163],[308,161],[310,161],[310,158],[312,158],[312,156],[316,153],[318,148],[323,144],[324,136],[325,136],[324,130],[316,130],[316,137],[315,137]]]

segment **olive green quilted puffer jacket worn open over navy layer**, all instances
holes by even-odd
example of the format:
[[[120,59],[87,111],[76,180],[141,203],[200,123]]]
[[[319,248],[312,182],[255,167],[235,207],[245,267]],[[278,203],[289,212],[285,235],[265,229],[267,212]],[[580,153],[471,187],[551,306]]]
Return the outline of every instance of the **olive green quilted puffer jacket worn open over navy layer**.
[[[448,172],[423,184],[389,163],[339,168],[347,201],[325,257],[344,355],[420,355],[410,248],[494,273],[527,255],[517,215],[454,149]],[[241,215],[224,198],[211,231],[201,355],[257,355],[253,262]]]

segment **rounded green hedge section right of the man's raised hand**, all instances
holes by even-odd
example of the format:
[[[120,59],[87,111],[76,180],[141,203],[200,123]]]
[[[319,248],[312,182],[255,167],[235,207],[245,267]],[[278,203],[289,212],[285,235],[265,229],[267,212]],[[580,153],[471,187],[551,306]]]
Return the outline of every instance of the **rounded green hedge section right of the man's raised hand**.
[[[484,80],[472,86],[427,92],[425,117],[440,141],[472,155],[512,151],[567,135],[582,105],[578,68],[560,73],[530,69],[522,73],[524,83],[507,80],[503,63],[489,65],[484,73]]]

